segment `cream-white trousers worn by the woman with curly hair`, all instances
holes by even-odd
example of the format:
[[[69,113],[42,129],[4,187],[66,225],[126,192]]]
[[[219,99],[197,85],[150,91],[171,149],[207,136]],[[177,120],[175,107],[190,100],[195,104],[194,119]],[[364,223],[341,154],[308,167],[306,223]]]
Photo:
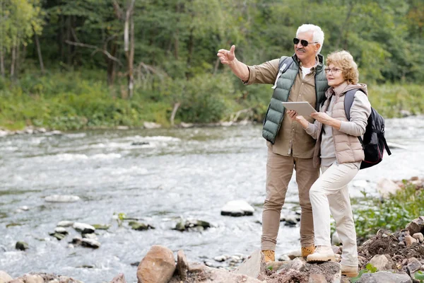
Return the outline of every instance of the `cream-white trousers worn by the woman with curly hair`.
[[[341,264],[358,267],[355,223],[349,198],[348,183],[359,169],[356,163],[321,166],[322,175],[312,185],[310,199],[314,214],[315,245],[331,246],[330,212],[336,221],[336,231],[343,244]]]

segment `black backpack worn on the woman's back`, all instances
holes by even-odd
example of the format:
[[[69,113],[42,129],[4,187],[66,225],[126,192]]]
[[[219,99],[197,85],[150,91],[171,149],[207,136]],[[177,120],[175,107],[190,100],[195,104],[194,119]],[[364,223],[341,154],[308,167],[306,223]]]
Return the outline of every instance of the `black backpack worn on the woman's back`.
[[[352,89],[345,93],[344,108],[346,117],[351,120],[351,107],[357,89]],[[360,169],[375,166],[383,160],[384,148],[387,154],[391,155],[389,146],[384,138],[384,118],[378,112],[371,108],[370,117],[367,120],[364,139],[358,137],[360,144],[363,146],[365,159],[360,163]]]

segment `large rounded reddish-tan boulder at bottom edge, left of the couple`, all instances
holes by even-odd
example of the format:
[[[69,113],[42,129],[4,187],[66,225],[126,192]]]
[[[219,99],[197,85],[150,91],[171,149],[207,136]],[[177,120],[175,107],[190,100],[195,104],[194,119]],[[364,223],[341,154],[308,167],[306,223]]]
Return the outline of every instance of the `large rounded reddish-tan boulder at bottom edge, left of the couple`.
[[[167,283],[175,271],[172,250],[164,246],[152,246],[137,268],[139,283]]]

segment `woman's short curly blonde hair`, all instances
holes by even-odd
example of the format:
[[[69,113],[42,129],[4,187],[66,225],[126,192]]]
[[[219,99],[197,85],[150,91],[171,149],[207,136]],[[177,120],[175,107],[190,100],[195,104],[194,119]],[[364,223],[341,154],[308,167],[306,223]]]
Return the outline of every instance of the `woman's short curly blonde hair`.
[[[358,65],[353,61],[351,53],[346,50],[335,51],[327,56],[326,66],[330,64],[343,69],[343,79],[348,83],[356,84],[359,81]]]

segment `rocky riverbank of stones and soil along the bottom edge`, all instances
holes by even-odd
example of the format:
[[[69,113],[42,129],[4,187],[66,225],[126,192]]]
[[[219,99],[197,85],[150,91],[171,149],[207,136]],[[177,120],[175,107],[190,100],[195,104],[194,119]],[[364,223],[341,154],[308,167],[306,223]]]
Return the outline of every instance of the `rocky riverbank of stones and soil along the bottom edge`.
[[[296,255],[288,260],[266,264],[257,250],[233,270],[213,268],[199,262],[189,262],[183,250],[177,252],[164,246],[152,246],[139,263],[137,278],[140,283],[321,283],[321,282],[420,282],[424,271],[424,216],[409,223],[405,229],[391,233],[379,230],[358,247],[360,275],[351,279],[341,276],[342,247],[333,246],[336,262],[310,264]],[[124,283],[123,274],[110,283]],[[0,283],[82,283],[61,275],[32,273],[13,279],[0,272]]]

